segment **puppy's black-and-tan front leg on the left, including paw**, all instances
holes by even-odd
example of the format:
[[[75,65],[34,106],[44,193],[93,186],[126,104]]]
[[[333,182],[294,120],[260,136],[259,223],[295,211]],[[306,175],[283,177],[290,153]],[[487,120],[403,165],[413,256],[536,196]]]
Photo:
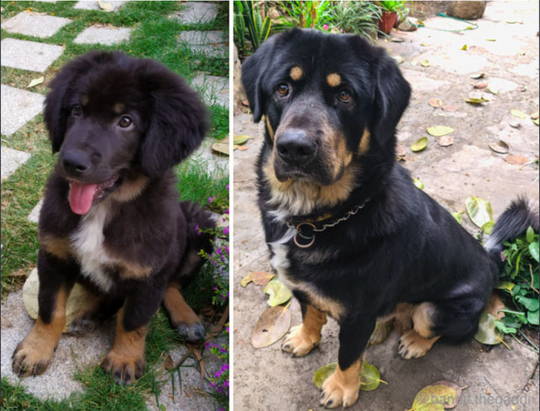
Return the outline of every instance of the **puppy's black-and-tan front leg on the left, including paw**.
[[[13,352],[12,369],[26,377],[43,374],[66,325],[66,302],[73,287],[74,272],[78,267],[52,254],[39,250],[38,317],[28,336]]]

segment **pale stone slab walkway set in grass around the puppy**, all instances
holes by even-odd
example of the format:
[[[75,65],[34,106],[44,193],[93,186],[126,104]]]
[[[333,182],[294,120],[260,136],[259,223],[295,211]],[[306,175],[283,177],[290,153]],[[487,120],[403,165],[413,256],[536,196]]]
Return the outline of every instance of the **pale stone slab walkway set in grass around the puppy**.
[[[125,1],[107,1],[112,12],[119,10]],[[201,22],[213,21],[217,16],[216,3],[184,3],[182,10],[175,13],[171,18],[177,19],[179,24],[192,26]],[[84,10],[101,10],[98,1],[79,1],[73,8]],[[107,12],[102,10],[102,12]],[[66,24],[70,19],[42,15],[37,12],[24,11],[3,21],[1,27],[6,33],[18,33],[33,37],[47,39]],[[74,42],[78,44],[107,44],[114,45],[129,41],[132,28],[88,27],[79,33]],[[188,37],[180,37],[179,43],[191,48],[194,54],[226,57],[228,54],[228,39],[223,39],[219,32],[182,32],[191,33]],[[219,37],[219,38],[218,38]],[[31,42],[21,39],[3,38],[1,41],[1,66],[12,67],[33,71],[36,77],[44,73],[60,55],[62,46]],[[47,79],[50,80],[50,79]],[[205,73],[197,73],[192,78],[192,86],[201,93],[207,104],[219,104],[228,107],[228,79],[214,77]],[[8,179],[18,167],[24,167],[24,163],[30,158],[30,153],[20,152],[4,146],[4,138],[12,136],[17,130],[24,127],[42,111],[44,95],[27,90],[16,89],[11,86],[1,86],[1,179]],[[211,152],[210,140],[201,147],[189,161],[205,161],[209,165],[210,172],[222,172],[228,174],[228,158],[218,157]],[[39,209],[42,201],[36,205],[28,216],[30,221],[37,223]],[[11,372],[11,354],[19,340],[28,333],[33,321],[30,320],[23,306],[21,291],[12,293],[2,304],[2,327],[1,327],[1,374],[15,378]],[[73,380],[73,373],[84,364],[96,363],[102,354],[107,352],[114,335],[114,324],[109,323],[89,338],[75,338],[63,336],[57,348],[51,367],[44,376],[26,378],[20,383],[28,392],[46,399],[52,396],[62,399],[69,396],[73,391],[82,389],[80,383]],[[172,359],[179,359],[185,353],[185,347],[179,347],[171,353]],[[189,363],[190,360],[188,360]],[[206,365],[208,371],[219,369],[220,364],[210,360]],[[214,402],[210,396],[197,395],[197,392],[208,389],[204,382],[200,381],[200,374],[195,368],[181,368],[182,387],[188,393],[179,392],[179,381],[175,386],[177,392],[172,399],[172,387],[170,381],[165,384],[160,396],[160,403],[168,410],[189,409],[213,409]],[[175,376],[174,378],[177,378]],[[19,381],[18,378],[15,380]],[[151,409],[157,409],[156,399],[152,396],[148,399]]]

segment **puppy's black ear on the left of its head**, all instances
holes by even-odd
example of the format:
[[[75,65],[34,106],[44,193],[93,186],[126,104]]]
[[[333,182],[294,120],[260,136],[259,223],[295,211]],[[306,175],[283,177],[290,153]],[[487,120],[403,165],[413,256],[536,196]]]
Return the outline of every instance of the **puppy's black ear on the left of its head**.
[[[44,119],[53,153],[60,150],[66,133],[66,122],[71,111],[69,98],[74,83],[87,73],[94,64],[110,60],[111,55],[104,52],[91,52],[66,64],[48,85],[51,91],[45,99]]]

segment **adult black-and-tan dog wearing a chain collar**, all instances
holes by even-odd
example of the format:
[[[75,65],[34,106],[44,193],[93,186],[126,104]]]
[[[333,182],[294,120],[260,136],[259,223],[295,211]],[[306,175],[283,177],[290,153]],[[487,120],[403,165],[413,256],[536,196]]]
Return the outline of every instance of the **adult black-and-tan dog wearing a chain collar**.
[[[259,206],[271,262],[302,308],[282,349],[318,345],[340,325],[338,367],[321,404],[352,405],[377,318],[395,317],[404,358],[435,340],[471,338],[498,278],[503,240],[538,227],[516,201],[489,255],[395,161],[395,128],[411,89],[381,48],[353,35],[291,30],[242,67],[255,122],[265,116]],[[388,317],[387,317],[388,318]]]

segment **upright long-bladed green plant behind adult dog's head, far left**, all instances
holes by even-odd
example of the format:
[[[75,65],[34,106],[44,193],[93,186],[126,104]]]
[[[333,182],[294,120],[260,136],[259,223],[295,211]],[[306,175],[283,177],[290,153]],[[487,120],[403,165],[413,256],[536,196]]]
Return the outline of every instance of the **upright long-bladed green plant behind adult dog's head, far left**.
[[[246,45],[245,35],[249,38],[253,49],[257,50],[270,33],[270,17],[266,16],[263,19],[262,10],[258,6],[258,3],[255,3],[253,0],[234,2],[235,38],[237,39],[237,45],[242,48],[242,51],[244,51]]]

